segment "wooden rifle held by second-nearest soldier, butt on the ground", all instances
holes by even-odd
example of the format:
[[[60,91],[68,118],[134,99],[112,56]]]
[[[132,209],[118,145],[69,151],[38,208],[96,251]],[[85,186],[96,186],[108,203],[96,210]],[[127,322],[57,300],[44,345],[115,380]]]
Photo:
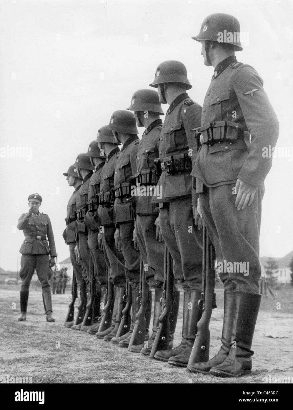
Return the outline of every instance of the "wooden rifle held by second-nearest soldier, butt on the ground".
[[[174,294],[174,275],[172,270],[172,256],[165,243],[164,253],[164,286],[163,296],[161,297],[161,306],[164,306],[163,313],[159,317],[159,327],[157,330],[154,344],[150,352],[150,359],[154,358],[154,355],[158,350],[169,350],[170,339],[170,313],[173,306],[173,294]]]

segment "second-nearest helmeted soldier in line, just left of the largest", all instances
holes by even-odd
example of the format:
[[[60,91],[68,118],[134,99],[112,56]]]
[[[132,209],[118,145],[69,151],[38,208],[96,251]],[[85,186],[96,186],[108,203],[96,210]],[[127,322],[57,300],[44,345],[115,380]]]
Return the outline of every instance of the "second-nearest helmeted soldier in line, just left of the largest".
[[[173,258],[174,277],[184,291],[182,341],[172,350],[158,351],[154,357],[186,367],[201,317],[202,233],[194,226],[192,205],[197,205],[197,198],[192,197],[195,192],[190,175],[191,158],[196,157],[191,129],[200,124],[201,106],[186,93],[192,86],[181,62],[159,64],[150,86],[158,89],[160,102],[169,105],[159,143],[162,174],[157,184],[163,187],[163,200],[168,202],[160,205],[159,221]]]

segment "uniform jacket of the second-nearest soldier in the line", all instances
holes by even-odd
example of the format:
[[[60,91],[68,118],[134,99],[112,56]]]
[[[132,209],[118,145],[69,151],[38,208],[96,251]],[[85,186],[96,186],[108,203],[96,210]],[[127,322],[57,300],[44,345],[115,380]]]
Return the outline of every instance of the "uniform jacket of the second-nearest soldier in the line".
[[[177,154],[189,154],[192,163],[195,162],[197,148],[194,132],[191,130],[199,127],[200,118],[201,106],[191,100],[187,93],[175,98],[166,113],[161,130],[159,141],[161,163],[163,158]],[[192,195],[192,177],[188,172],[169,175],[163,171],[157,185],[163,187],[163,200],[170,201]],[[155,198],[154,201],[162,202]]]

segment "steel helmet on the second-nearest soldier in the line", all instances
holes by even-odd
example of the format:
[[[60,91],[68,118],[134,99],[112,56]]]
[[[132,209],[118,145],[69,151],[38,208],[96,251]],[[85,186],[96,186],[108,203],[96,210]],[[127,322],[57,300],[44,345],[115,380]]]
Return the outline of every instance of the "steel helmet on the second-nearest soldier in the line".
[[[167,82],[181,82],[186,84],[187,90],[192,88],[187,78],[186,66],[180,61],[168,60],[159,64],[150,87],[158,88],[158,84]]]

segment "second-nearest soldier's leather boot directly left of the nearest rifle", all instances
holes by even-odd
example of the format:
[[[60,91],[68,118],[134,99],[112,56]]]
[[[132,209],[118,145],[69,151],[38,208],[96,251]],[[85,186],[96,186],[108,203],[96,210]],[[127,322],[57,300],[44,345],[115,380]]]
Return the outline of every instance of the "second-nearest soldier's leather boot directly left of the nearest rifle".
[[[192,289],[190,296],[190,310],[188,313],[188,330],[187,330],[187,344],[185,349],[168,360],[168,364],[172,366],[187,367],[188,360],[191,355],[192,347],[195,342],[197,334],[197,322],[201,318],[202,311],[199,310],[198,301],[201,299],[201,291]]]

